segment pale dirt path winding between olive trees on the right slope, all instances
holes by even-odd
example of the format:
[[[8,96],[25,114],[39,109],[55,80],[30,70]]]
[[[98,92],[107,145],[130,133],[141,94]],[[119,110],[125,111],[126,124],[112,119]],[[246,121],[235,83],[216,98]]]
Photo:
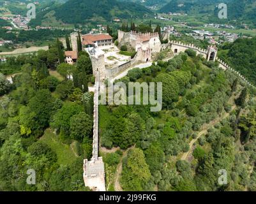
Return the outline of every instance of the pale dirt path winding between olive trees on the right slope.
[[[236,108],[236,105],[233,105],[230,112],[232,112],[234,109]],[[216,118],[215,120],[212,120],[210,123],[208,124],[204,124],[204,126],[202,126],[201,131],[198,133],[197,138],[193,139],[190,142],[190,150],[188,150],[188,152],[184,152],[184,154],[181,156],[181,160],[186,160],[188,161],[188,158],[190,157],[190,155],[192,155],[193,152],[193,145],[197,142],[197,140],[202,136],[205,135],[207,133],[207,130],[213,126],[215,126],[215,124],[217,124],[218,122],[220,122],[221,120],[225,119],[226,117],[228,117],[230,115],[229,113],[224,113],[222,116]]]

